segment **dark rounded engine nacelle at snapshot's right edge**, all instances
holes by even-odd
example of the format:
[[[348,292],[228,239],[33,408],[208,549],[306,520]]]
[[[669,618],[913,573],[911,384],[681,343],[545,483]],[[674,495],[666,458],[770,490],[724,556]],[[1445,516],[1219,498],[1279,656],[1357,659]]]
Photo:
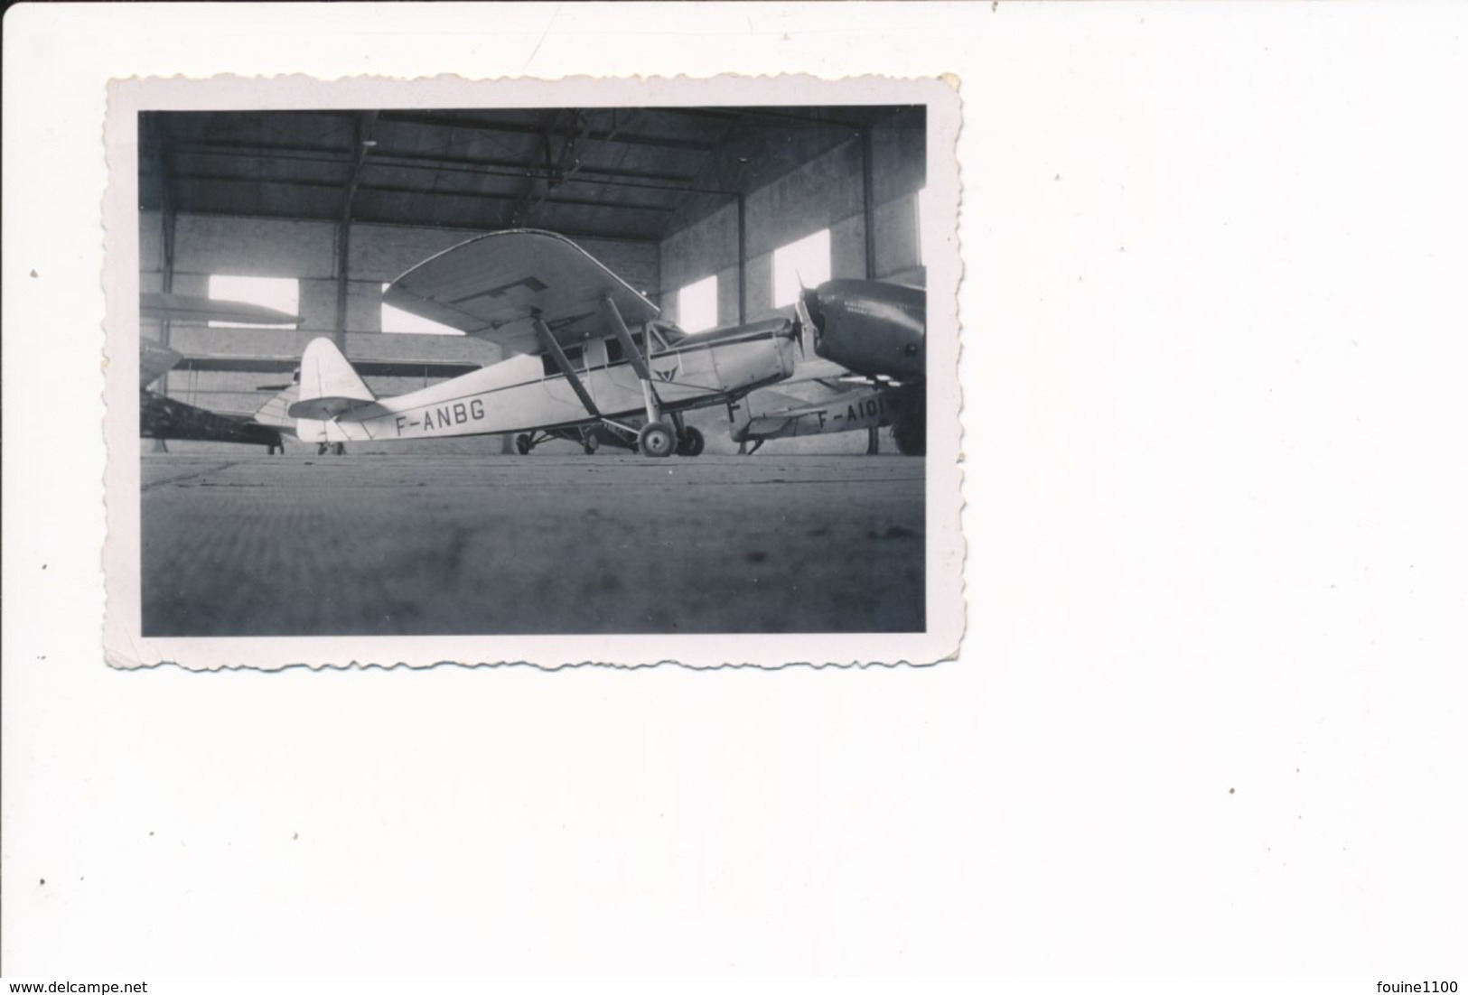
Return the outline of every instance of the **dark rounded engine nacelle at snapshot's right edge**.
[[[926,373],[926,291],[828,280],[803,291],[800,304],[822,360],[862,376],[907,379]]]

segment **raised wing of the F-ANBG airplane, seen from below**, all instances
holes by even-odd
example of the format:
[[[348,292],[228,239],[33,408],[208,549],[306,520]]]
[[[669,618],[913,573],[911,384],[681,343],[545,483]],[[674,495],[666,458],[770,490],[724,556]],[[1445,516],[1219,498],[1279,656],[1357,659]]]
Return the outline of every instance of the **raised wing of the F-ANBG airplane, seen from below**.
[[[658,308],[580,245],[553,232],[480,235],[399,276],[383,299],[511,352],[540,352],[539,314],[562,345],[611,335],[600,302],[609,296],[628,327]]]

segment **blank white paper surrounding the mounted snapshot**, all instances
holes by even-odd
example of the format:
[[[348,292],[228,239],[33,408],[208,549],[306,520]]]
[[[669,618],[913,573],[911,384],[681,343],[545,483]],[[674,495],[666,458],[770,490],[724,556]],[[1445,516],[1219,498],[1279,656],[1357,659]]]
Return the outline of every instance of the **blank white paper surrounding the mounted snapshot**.
[[[12,9],[6,974],[1461,966],[1465,34],[1425,4]],[[103,665],[109,78],[718,70],[962,81],[960,660]]]

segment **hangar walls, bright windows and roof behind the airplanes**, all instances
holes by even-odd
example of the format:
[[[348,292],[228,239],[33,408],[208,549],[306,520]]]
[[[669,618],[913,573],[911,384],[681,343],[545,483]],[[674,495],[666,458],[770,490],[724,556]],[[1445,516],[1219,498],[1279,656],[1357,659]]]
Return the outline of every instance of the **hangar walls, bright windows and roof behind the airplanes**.
[[[382,302],[386,283],[484,232],[565,235],[688,330],[791,314],[793,279],[925,283],[920,106],[151,112],[138,125],[141,289],[301,317],[144,320],[185,357],[154,390],[213,411],[258,409],[319,336],[370,362],[379,395],[499,360]],[[721,408],[690,421],[711,452],[734,451]],[[509,451],[508,437],[415,445]],[[775,448],[862,452],[866,437]]]

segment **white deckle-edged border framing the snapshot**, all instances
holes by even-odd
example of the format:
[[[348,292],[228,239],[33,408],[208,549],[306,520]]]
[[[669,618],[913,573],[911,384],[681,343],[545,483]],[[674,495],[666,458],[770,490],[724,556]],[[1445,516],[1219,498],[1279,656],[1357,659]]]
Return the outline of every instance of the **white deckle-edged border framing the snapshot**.
[[[926,665],[957,657],[964,633],[960,524],[959,310],[962,279],[957,233],[960,173],[957,136],[962,103],[951,76],[898,79],[854,76],[568,78],[468,81],[304,75],[273,78],[126,79],[109,88],[106,144],[109,185],[106,227],[107,360],[107,542],[104,571],[106,659],[116,668],[176,663],[188,669],[285,666],[435,666],[439,663],[530,663],[694,668],[790,663]],[[757,106],[757,104],[925,104],[928,109],[926,205],[950,219],[940,230],[925,225],[928,286],[928,455],[926,627],[920,633],[819,634],[590,634],[590,635],[395,635],[395,637],[211,637],[157,638],[141,631],[141,492],[137,374],[139,323],[138,135],[139,112],[310,107],[467,106]],[[928,220],[928,219],[925,219]]]

